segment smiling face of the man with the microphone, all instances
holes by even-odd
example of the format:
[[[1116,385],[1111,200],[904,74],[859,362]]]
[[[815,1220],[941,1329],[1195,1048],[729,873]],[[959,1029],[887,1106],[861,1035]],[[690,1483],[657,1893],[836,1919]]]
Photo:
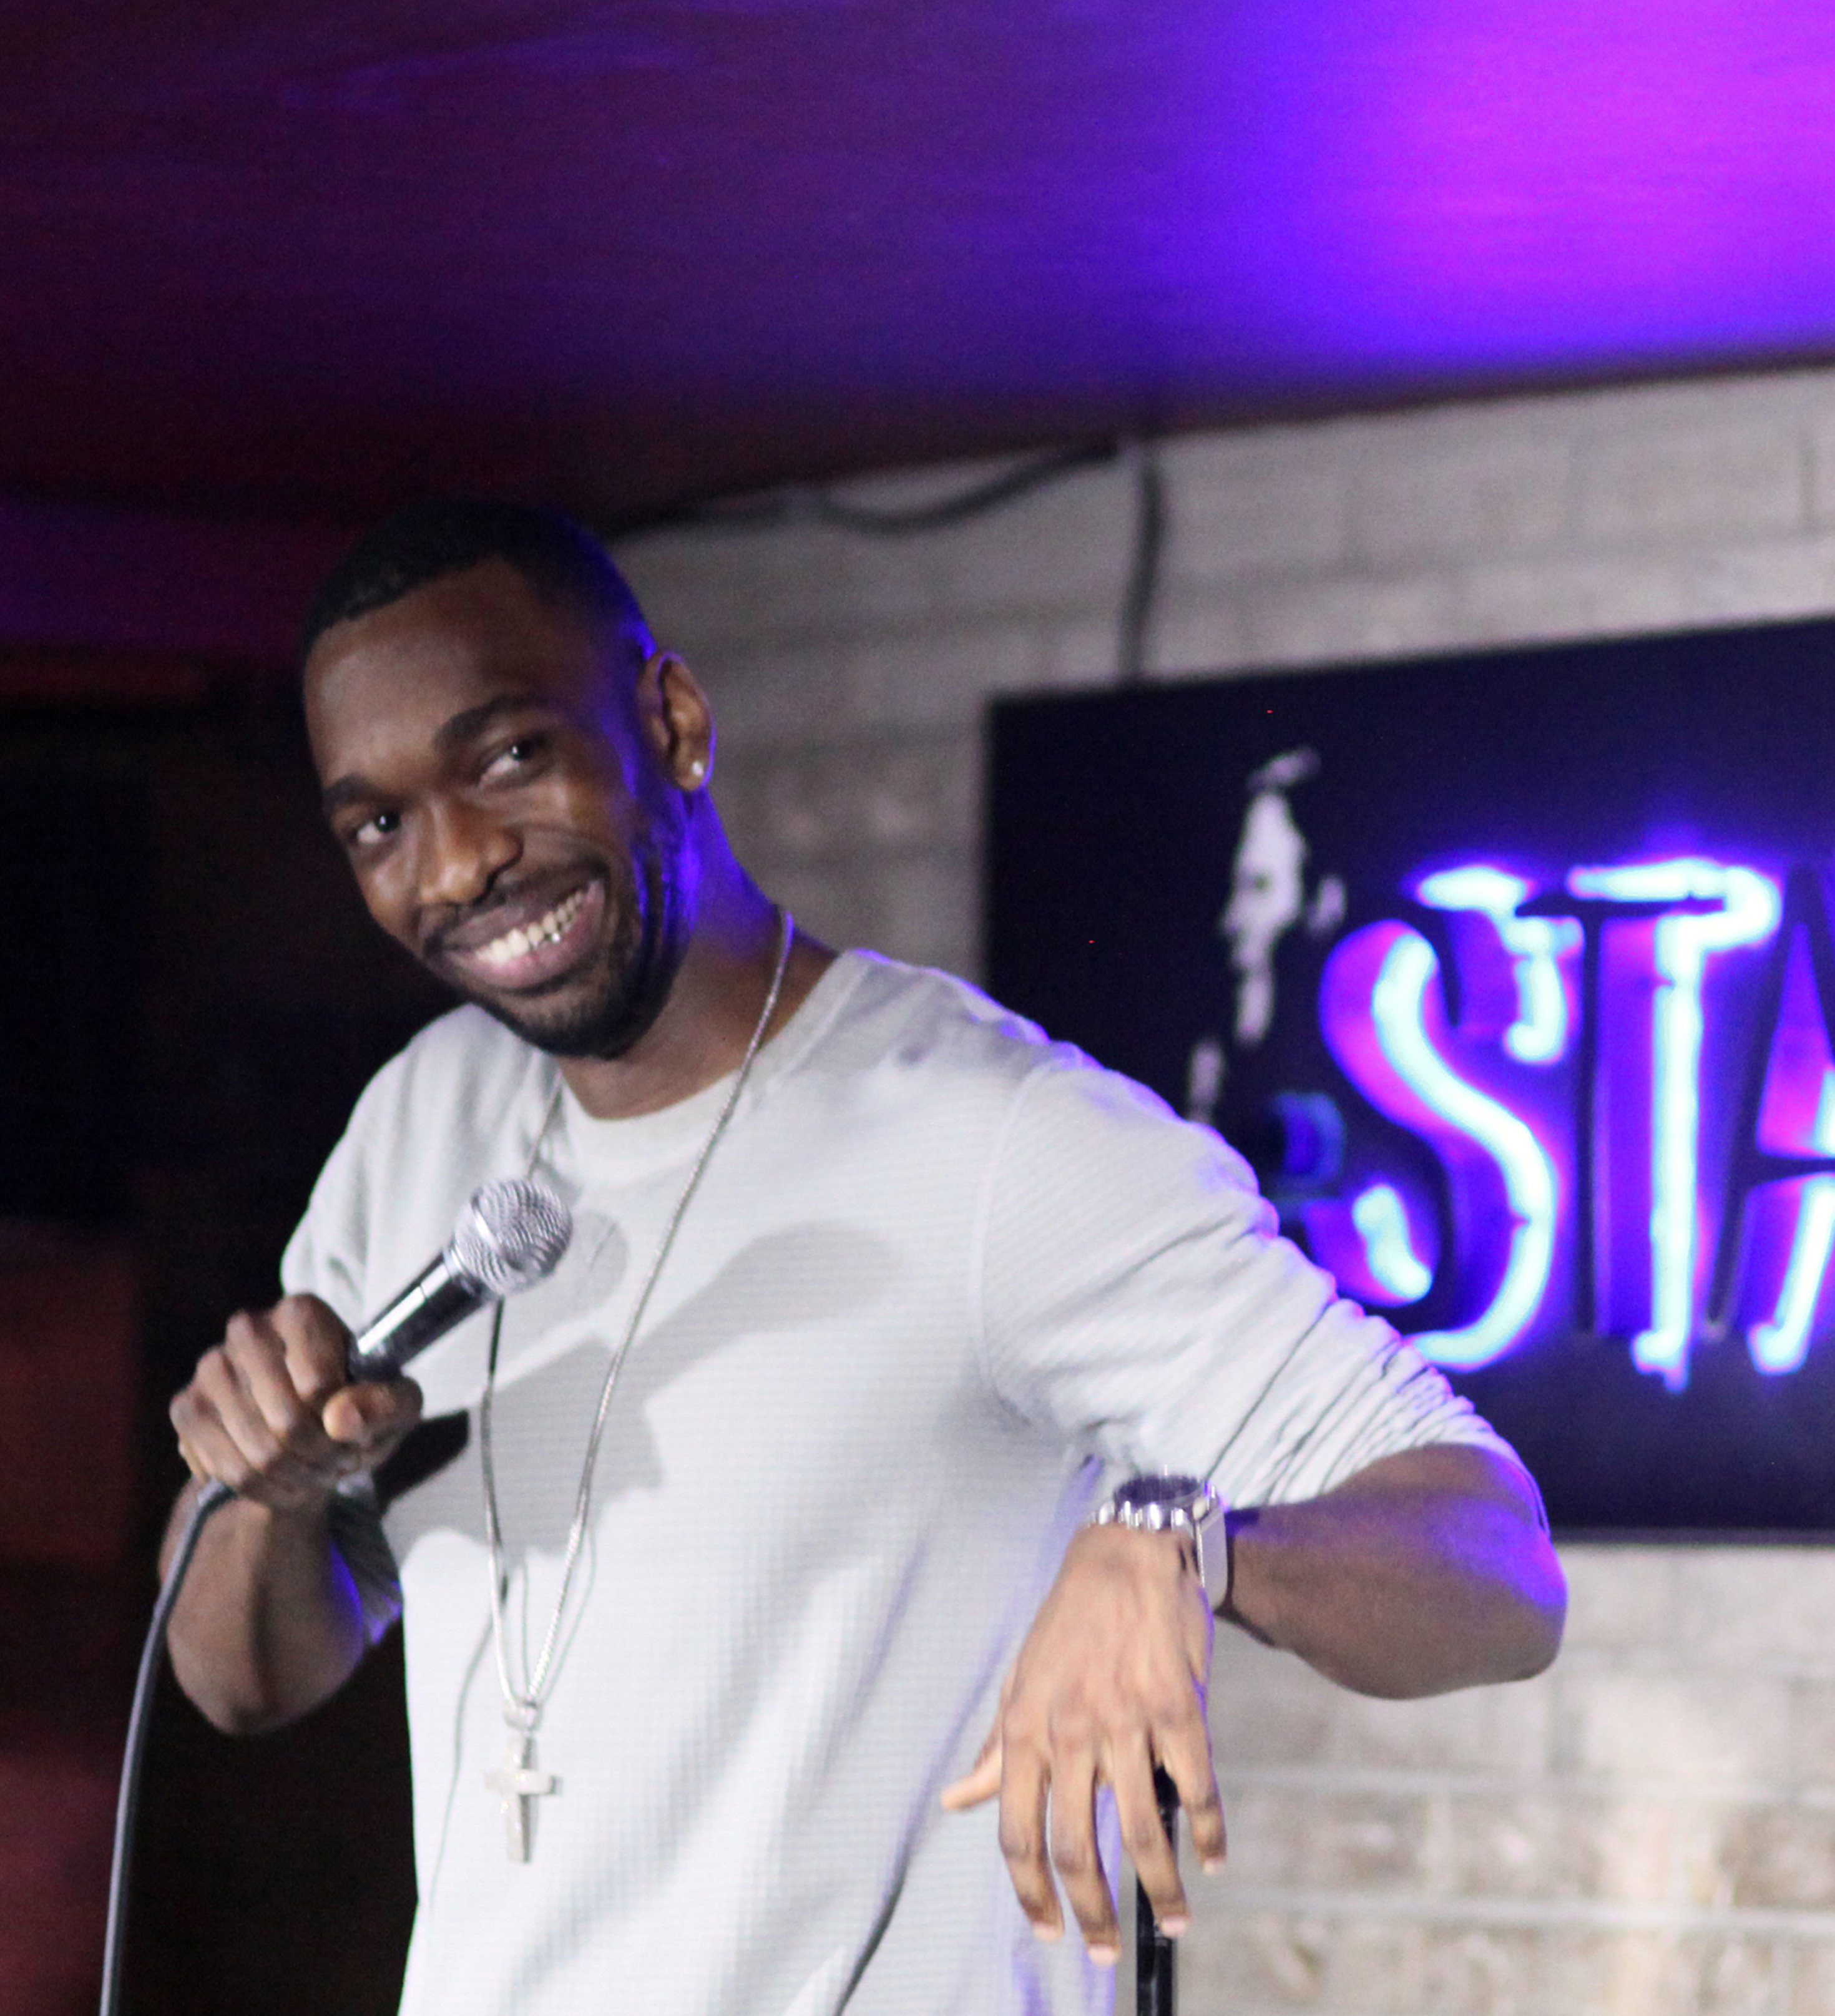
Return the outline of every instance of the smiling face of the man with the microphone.
[[[375,921],[561,1056],[655,1020],[694,889],[635,651],[502,560],[327,631],[307,663],[325,812]]]

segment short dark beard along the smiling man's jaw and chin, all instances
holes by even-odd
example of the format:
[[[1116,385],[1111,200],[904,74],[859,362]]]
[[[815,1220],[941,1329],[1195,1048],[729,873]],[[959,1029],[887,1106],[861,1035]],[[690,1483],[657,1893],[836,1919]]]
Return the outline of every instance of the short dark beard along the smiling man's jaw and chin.
[[[663,1012],[688,950],[690,905],[671,873],[674,861],[680,847],[657,845],[653,829],[639,835],[629,867],[607,889],[617,923],[597,970],[585,978],[585,994],[573,974],[555,984],[567,998],[553,1008],[542,1006],[540,994],[506,1002],[464,984],[458,992],[548,1056],[623,1056]],[[442,978],[454,984],[450,974]]]

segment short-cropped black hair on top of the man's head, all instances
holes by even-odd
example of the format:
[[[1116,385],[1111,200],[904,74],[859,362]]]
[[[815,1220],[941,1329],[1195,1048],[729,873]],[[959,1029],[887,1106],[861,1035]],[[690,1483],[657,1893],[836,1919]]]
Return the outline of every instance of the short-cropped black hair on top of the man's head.
[[[430,498],[383,518],[337,562],[307,611],[300,663],[335,623],[385,609],[484,560],[506,560],[544,601],[571,605],[645,653],[653,649],[631,585],[583,524],[532,504]]]

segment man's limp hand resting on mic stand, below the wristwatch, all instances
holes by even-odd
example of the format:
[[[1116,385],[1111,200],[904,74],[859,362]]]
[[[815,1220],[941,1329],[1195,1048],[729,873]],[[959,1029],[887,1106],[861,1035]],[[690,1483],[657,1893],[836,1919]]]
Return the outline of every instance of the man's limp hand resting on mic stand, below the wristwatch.
[[[1178,1855],[1159,1820],[1153,1766],[1180,1788],[1192,1847],[1224,1859],[1224,1808],[1204,1720],[1214,1621],[1184,1538],[1087,1526],[1071,1542],[1000,1695],[1000,1714],[952,1812],[1000,1796],[1000,1853],[1041,1939],[1065,1929],[1053,1871],[1089,1958],[1121,1951],[1097,1853],[1095,1798],[1115,1790],[1121,1843],[1159,1929],[1186,1929]]]

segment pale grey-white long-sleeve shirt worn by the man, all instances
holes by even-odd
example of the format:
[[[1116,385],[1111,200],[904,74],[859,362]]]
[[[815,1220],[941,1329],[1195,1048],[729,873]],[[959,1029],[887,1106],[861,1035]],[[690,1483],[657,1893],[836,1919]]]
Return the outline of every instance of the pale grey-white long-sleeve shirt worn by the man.
[[[357,1322],[480,1181],[534,1165],[569,1198],[573,1246],[502,1331],[518,1671],[611,1347],[728,1089],[595,1121],[458,1010],[363,1095],[288,1248],[286,1288]],[[472,1318],[413,1365],[432,1425],[383,1478],[407,2016],[1107,2008],[1075,1935],[1030,1935],[992,1806],[938,1808],[1103,1470],[1254,1504],[1430,1441],[1502,1447],[1274,1236],[1214,1133],[962,982],[847,954],[758,1054],[619,1379],[538,1730],[559,1792],[514,1865],[484,1784],[506,1748],[486,1339]]]

